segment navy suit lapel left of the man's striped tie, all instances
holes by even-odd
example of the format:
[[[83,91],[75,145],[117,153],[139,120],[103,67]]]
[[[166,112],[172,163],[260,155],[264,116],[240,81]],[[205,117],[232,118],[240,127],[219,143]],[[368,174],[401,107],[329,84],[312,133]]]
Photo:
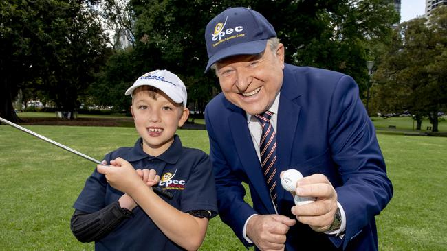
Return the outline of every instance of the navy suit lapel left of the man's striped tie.
[[[248,130],[246,113],[236,106],[233,107],[232,110],[236,110],[237,112],[232,113],[230,117],[228,117],[228,123],[235,125],[231,126],[230,130],[243,169],[245,169],[248,179],[254,184],[252,185],[252,189],[257,191],[264,207],[267,208],[269,213],[275,213],[267,185],[265,185],[261,163],[259,163],[259,158],[254,150],[250,130]]]

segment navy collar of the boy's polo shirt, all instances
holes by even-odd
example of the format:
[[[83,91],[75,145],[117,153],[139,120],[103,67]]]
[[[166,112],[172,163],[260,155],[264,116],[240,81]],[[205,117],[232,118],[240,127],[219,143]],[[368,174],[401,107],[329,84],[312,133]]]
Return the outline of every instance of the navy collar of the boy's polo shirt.
[[[149,154],[146,154],[146,152],[143,151],[142,147],[143,139],[139,138],[137,142],[135,142],[135,145],[133,146],[133,151],[131,152],[129,156],[129,161],[138,161],[142,160],[143,158],[155,158],[162,160],[169,164],[177,163],[177,160],[180,158],[180,153],[182,152],[182,141],[180,141],[180,138],[178,135],[174,135],[174,141],[169,146],[168,150],[166,150],[164,153],[160,154],[159,156],[151,156]]]

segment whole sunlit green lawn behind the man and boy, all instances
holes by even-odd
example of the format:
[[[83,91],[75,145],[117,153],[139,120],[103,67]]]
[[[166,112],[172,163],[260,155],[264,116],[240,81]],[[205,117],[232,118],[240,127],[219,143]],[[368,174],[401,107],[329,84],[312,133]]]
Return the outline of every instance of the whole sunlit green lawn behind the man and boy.
[[[131,146],[134,128],[26,126],[101,159]],[[179,130],[184,145],[209,152],[203,130]],[[442,250],[447,246],[447,138],[378,134],[395,195],[378,215],[380,250]],[[7,125],[0,125],[0,250],[93,250],[69,230],[73,202],[95,165]],[[361,212],[359,212],[361,213]],[[219,217],[201,250],[242,250]]]

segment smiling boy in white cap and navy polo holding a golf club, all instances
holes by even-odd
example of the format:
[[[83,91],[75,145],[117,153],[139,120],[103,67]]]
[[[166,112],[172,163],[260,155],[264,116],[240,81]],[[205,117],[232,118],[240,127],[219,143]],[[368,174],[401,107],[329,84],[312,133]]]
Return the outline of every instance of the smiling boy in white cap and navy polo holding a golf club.
[[[197,250],[217,205],[208,155],[182,147],[175,135],[189,115],[186,88],[177,75],[157,70],[125,94],[140,139],[107,154],[109,166],[98,165],[87,179],[72,232],[95,241],[96,250]],[[173,198],[157,196],[157,183]]]

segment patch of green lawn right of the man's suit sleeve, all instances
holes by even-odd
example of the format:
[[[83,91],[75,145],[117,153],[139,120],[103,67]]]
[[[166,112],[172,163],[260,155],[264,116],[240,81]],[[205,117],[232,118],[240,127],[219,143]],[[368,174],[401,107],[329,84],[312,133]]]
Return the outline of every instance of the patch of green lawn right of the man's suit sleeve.
[[[445,250],[447,138],[378,134],[394,196],[378,216],[379,250]]]

